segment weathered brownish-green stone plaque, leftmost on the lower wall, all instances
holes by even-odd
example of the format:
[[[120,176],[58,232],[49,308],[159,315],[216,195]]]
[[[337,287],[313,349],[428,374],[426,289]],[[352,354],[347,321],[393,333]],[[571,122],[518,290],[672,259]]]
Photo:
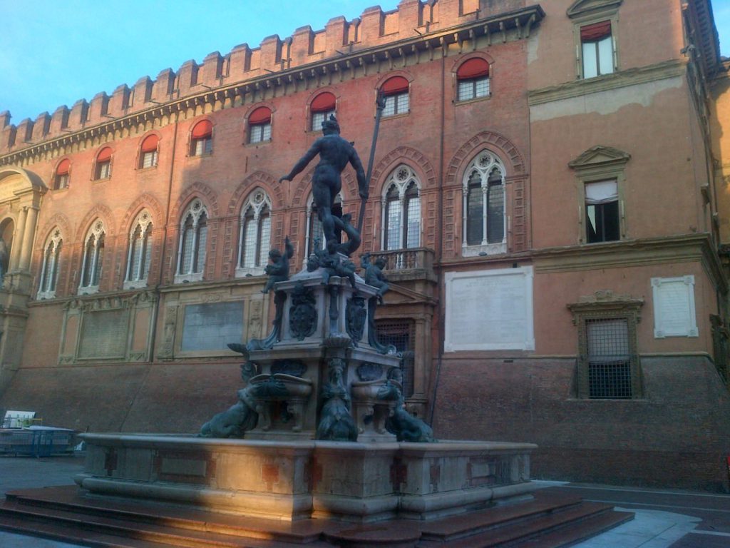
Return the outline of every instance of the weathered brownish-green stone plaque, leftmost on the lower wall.
[[[129,312],[125,309],[86,313],[82,321],[79,358],[123,359],[128,326]]]

